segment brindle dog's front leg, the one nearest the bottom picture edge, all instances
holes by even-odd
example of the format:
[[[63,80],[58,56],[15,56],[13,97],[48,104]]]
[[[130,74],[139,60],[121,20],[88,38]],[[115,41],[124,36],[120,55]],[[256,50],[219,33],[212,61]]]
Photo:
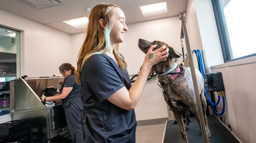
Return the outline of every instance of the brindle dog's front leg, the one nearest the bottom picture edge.
[[[174,117],[177,121],[177,124],[179,125],[179,130],[181,131],[182,143],[188,143],[188,138],[187,138],[186,131],[184,128],[182,112],[173,110],[173,113],[174,113]]]

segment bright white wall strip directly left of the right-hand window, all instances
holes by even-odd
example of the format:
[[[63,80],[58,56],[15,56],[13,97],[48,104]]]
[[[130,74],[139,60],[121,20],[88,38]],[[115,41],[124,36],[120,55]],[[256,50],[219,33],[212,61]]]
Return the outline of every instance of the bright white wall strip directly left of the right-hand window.
[[[194,0],[199,24],[202,47],[207,56],[208,66],[224,63],[220,38],[211,0]]]

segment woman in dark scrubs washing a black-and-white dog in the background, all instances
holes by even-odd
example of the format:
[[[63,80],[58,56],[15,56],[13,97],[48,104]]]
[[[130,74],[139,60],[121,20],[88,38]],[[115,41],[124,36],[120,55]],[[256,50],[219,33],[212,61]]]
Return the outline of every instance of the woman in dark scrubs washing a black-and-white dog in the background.
[[[63,63],[59,66],[59,72],[64,77],[61,94],[51,97],[43,95],[41,99],[42,101],[62,100],[72,142],[83,143],[85,139],[85,125],[82,120],[84,110],[81,102],[81,87],[77,84],[75,77],[76,69],[70,63]]]

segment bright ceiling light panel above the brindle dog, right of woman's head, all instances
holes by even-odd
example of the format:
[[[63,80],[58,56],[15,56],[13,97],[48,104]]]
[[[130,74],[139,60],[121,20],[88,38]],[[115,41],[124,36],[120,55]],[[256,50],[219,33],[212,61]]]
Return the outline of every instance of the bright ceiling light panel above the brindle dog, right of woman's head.
[[[166,2],[143,5],[140,9],[145,17],[167,13]]]

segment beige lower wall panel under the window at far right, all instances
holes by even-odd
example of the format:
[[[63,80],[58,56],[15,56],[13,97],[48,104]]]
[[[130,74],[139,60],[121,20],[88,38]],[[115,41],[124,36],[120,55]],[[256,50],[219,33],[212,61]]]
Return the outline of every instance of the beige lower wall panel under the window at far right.
[[[222,118],[243,143],[256,140],[256,63],[212,69],[222,72],[226,89],[226,110]],[[216,98],[217,99],[217,98]],[[222,111],[222,101],[217,111]]]

